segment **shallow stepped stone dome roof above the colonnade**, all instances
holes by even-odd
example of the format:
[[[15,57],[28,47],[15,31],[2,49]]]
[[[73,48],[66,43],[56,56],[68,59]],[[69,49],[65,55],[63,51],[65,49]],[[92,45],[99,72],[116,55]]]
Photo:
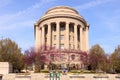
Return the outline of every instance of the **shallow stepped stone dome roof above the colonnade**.
[[[51,18],[61,18],[61,17],[64,17],[64,18],[73,18],[73,19],[77,19],[79,21],[82,21],[83,23],[87,23],[84,18],[79,15],[79,13],[71,8],[71,7],[68,7],[68,6],[57,6],[57,7],[53,7],[53,8],[50,8],[46,13],[45,15],[43,15],[39,21],[37,21],[36,24],[40,24],[41,22],[43,22],[44,20],[47,20],[47,19],[51,19]]]

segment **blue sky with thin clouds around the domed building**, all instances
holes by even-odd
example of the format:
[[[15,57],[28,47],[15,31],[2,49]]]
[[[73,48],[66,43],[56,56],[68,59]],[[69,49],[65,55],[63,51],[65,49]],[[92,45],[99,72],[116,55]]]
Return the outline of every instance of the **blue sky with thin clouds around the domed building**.
[[[34,23],[51,7],[70,6],[90,24],[89,48],[112,53],[120,44],[120,0],[0,0],[0,39],[11,38],[22,51],[34,46]]]

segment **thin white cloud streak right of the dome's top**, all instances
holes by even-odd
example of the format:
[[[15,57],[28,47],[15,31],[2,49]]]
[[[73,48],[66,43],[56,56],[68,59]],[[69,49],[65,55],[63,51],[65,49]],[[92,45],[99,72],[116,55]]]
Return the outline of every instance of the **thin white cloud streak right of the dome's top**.
[[[85,10],[85,9],[89,9],[91,7],[102,5],[102,4],[111,2],[111,1],[114,1],[114,0],[94,0],[94,1],[91,1],[91,2],[88,2],[88,3],[85,3],[83,5],[76,6],[75,8],[78,9],[78,10]]]

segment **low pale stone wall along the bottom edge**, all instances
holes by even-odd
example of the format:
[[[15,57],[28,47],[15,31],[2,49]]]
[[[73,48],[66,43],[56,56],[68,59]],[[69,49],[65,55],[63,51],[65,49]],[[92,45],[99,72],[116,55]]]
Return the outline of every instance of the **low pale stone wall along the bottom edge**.
[[[50,80],[49,74],[33,73],[31,75],[7,74],[2,80]],[[53,80],[53,79],[52,79]],[[54,78],[56,80],[56,78]],[[60,75],[60,80],[120,80],[118,74],[67,74]]]

